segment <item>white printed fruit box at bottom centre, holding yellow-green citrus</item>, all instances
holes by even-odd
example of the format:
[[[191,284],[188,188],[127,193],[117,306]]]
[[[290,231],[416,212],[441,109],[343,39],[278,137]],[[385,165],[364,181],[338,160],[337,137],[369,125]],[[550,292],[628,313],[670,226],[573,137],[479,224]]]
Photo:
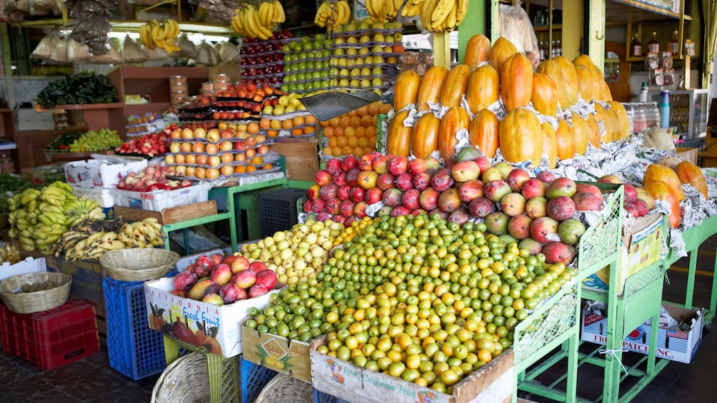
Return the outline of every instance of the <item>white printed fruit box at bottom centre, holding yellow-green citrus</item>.
[[[445,394],[316,351],[325,344],[326,336],[311,342],[311,383],[348,402],[507,403],[516,387],[513,349],[455,384],[453,394]]]

